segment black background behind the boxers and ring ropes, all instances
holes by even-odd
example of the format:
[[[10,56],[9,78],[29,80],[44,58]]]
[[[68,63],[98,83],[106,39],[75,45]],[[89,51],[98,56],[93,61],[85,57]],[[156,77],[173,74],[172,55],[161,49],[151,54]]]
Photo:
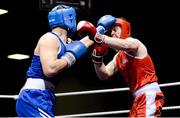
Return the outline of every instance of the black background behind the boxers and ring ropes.
[[[155,64],[159,83],[180,81],[178,68],[180,19],[177,3],[130,0],[90,2],[91,7],[77,7],[77,23],[80,20],[88,20],[96,25],[97,20],[105,14],[126,18],[131,23],[132,36],[147,46]],[[16,95],[23,86],[31,58],[17,61],[7,59],[7,55],[21,53],[32,57],[39,37],[50,31],[47,13],[51,7],[42,7],[40,0],[0,0],[0,8],[9,10],[8,14],[0,15],[1,95]],[[105,61],[108,62],[114,53],[110,50]],[[100,81],[96,77],[89,51],[71,69],[64,71],[56,93],[122,87],[127,85],[120,74],[107,81]],[[179,86],[162,88],[166,96],[165,106],[180,105],[179,90]],[[133,98],[127,91],[58,97],[56,115],[128,110],[132,102]],[[0,98],[0,116],[17,116],[14,99]],[[109,116],[127,116],[127,114]],[[162,116],[180,116],[180,110],[164,110]]]

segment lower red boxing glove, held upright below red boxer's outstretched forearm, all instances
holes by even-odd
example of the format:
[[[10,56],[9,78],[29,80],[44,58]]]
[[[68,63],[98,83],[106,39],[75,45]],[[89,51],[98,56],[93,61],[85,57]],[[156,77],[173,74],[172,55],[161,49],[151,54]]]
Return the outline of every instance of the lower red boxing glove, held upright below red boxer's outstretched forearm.
[[[103,62],[103,56],[107,54],[108,46],[105,44],[102,45],[94,45],[91,57],[92,61],[96,64]]]

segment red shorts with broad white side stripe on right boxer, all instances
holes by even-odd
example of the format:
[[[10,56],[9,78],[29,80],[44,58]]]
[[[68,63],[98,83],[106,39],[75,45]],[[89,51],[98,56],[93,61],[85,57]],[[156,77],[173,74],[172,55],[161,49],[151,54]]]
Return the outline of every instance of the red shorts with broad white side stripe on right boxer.
[[[161,115],[165,97],[160,89],[158,89],[159,86],[157,85],[156,87],[156,89],[142,88],[142,91],[135,96],[129,117],[157,117]]]

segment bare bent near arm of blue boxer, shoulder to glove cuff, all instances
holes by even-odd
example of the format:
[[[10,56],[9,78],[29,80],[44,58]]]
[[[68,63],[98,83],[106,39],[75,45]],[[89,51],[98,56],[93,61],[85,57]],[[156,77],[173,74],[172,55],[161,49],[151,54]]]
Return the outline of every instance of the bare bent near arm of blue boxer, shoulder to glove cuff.
[[[63,71],[68,63],[64,59],[57,59],[59,42],[56,37],[46,35],[39,41],[39,54],[43,73],[47,77],[52,77]]]

